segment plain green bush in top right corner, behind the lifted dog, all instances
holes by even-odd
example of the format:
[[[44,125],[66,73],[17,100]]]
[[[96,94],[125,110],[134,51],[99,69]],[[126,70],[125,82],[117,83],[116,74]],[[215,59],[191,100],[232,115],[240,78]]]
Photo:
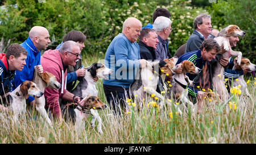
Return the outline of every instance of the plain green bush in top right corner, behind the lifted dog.
[[[255,57],[255,6],[256,1],[232,1],[219,0],[208,7],[209,13],[212,16],[212,23],[216,24],[218,30],[228,26],[229,24],[236,24],[246,32],[246,35],[240,37],[237,47],[233,48],[235,51],[241,51],[243,57],[247,57],[251,62],[256,62]]]

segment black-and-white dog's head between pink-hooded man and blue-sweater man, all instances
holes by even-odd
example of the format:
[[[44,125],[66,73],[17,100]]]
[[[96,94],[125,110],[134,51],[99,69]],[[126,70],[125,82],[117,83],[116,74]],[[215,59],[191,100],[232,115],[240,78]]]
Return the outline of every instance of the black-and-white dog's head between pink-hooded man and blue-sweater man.
[[[92,65],[90,65],[88,68],[86,68],[88,72],[90,72],[91,76],[93,78],[103,78],[103,79],[108,79],[109,74],[114,72],[114,70],[106,68],[104,64],[94,62]]]

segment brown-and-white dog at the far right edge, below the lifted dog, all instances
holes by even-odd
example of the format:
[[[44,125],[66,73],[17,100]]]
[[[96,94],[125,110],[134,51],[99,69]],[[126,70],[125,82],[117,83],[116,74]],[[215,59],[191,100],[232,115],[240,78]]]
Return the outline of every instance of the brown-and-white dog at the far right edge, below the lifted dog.
[[[242,68],[250,68],[249,72],[256,70],[256,65],[251,64],[248,58],[242,58],[240,65],[238,65],[236,60],[234,60],[234,62],[235,62],[235,65],[233,66],[234,70],[242,70]],[[248,97],[251,96],[249,91],[247,90],[247,85],[246,85],[245,79],[243,79],[243,75],[238,77],[238,80],[233,80],[233,86],[236,87],[238,85],[241,86],[240,90],[242,91],[242,93],[245,92]]]

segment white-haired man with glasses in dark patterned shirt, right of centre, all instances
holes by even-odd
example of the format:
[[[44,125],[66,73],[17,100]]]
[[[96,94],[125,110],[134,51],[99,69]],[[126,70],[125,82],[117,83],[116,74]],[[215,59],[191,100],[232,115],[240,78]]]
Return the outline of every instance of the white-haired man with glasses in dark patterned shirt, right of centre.
[[[165,16],[159,16],[155,19],[153,24],[153,30],[158,34],[159,43],[156,45],[155,57],[156,60],[163,60],[165,58],[170,58],[170,52],[168,51],[168,36],[172,31],[171,27],[172,21],[170,18]]]

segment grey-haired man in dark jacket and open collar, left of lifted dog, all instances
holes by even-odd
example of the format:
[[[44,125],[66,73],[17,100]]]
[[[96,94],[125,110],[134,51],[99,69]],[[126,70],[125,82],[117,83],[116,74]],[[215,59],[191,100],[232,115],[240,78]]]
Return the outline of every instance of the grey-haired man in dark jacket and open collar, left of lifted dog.
[[[210,33],[212,33],[211,23],[210,15],[208,14],[196,16],[193,23],[195,30],[192,35],[188,37],[185,53],[198,50],[205,39],[214,37],[210,35]]]

